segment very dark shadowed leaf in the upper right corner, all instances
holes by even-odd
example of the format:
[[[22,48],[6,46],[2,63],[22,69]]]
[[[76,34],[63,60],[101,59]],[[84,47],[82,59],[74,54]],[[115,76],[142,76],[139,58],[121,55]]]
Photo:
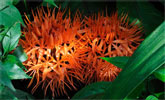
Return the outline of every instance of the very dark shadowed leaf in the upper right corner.
[[[144,32],[149,35],[164,21],[163,14],[157,10],[152,4],[147,2],[140,2],[135,0],[134,2],[121,2],[117,0],[118,13],[128,13],[130,17],[137,18],[142,22],[144,26]]]

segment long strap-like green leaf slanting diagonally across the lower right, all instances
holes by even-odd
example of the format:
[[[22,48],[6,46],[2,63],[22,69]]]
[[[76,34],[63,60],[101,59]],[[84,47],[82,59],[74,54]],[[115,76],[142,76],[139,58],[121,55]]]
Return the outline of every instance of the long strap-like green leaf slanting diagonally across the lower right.
[[[163,22],[134,52],[122,72],[105,92],[104,99],[124,99],[165,63]]]

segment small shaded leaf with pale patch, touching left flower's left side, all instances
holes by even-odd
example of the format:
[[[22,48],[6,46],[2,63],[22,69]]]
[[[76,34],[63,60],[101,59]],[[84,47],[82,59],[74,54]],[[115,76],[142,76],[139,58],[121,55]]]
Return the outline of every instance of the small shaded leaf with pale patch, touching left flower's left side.
[[[14,52],[13,55],[15,55],[21,62],[24,62],[27,60],[27,55],[24,52],[22,46],[17,47]]]

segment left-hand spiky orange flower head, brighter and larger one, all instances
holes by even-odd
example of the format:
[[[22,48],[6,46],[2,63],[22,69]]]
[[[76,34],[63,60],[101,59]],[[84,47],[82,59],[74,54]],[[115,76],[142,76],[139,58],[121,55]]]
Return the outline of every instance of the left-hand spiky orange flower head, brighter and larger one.
[[[42,83],[45,94],[48,87],[53,96],[67,94],[65,87],[76,89],[73,79],[83,81],[78,61],[79,52],[83,49],[78,38],[81,37],[80,15],[76,13],[72,21],[70,12],[69,16],[60,9],[57,13],[55,9],[47,9],[46,13],[43,7],[32,14],[34,21],[26,18],[24,38],[20,40],[28,55],[24,65],[27,73],[33,76],[29,86],[36,78],[32,92]]]

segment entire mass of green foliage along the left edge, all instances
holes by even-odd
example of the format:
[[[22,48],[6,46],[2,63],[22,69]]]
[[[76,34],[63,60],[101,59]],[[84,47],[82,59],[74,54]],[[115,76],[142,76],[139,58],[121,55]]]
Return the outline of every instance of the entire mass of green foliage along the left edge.
[[[18,91],[11,80],[31,78],[23,71],[25,67],[22,62],[27,60],[27,55],[20,46],[17,47],[21,25],[25,26],[19,10],[14,6],[18,2],[19,0],[0,1],[0,99],[18,100],[14,95]]]

